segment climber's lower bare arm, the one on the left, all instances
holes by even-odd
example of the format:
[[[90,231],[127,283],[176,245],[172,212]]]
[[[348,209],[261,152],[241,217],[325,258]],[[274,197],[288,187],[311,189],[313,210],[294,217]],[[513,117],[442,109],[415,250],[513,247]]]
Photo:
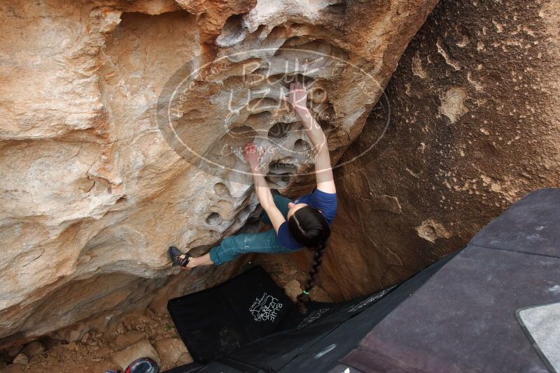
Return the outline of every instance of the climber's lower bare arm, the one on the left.
[[[258,200],[262,209],[265,210],[267,213],[272,226],[274,227],[274,231],[278,233],[278,229],[280,228],[281,224],[286,221],[284,219],[278,207],[274,203],[274,198],[272,198],[272,193],[270,193],[270,188],[268,187],[267,180],[265,179],[265,175],[262,174],[262,168],[260,164],[260,156],[262,156],[262,152],[259,152],[255,144],[253,142],[249,142],[245,145],[244,148],[244,156],[251,166],[251,173],[253,174],[253,182],[255,182],[255,192],[257,193]]]

